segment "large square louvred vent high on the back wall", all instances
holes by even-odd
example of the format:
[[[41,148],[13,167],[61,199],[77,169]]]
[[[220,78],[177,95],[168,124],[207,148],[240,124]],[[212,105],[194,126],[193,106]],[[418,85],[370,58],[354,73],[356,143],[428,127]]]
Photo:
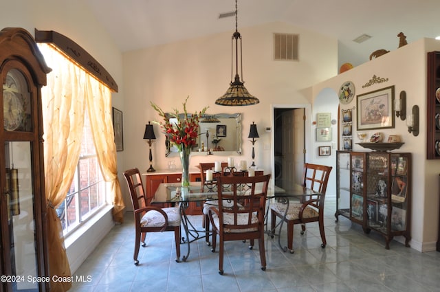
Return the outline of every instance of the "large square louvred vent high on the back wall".
[[[298,60],[298,34],[274,34],[274,60]]]

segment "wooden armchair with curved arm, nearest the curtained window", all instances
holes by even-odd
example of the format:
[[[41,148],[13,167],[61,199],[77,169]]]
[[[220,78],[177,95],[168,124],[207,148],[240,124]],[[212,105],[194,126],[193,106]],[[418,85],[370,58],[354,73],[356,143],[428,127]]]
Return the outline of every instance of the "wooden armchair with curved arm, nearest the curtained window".
[[[144,184],[137,168],[131,168],[124,172],[124,177],[131,195],[133,214],[135,216],[135,249],[133,259],[135,265],[139,265],[137,255],[139,254],[140,242],[146,247],[145,237],[147,232],[174,232],[176,243],[176,262],[180,260],[180,223],[181,216],[179,207],[156,207],[146,205]]]

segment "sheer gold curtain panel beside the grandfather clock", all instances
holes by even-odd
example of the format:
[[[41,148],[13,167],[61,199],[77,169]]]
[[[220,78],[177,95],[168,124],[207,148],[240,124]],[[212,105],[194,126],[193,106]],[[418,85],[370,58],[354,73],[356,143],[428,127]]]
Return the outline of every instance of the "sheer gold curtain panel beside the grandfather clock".
[[[64,246],[63,228],[55,208],[61,205],[72,184],[80,155],[85,111],[85,71],[49,45],[40,45],[52,72],[41,90],[43,102],[47,241],[50,276],[71,276]],[[80,96],[80,98],[78,98]],[[69,282],[52,282],[52,291],[67,291]]]

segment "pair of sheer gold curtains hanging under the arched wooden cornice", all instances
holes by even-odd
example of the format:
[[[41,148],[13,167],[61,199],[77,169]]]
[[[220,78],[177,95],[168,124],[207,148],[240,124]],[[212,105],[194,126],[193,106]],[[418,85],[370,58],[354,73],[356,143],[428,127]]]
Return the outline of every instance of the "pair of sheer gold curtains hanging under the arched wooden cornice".
[[[96,79],[91,78],[83,69],[50,45],[39,44],[39,47],[47,65],[52,68],[52,72],[47,75],[47,86],[42,88],[45,186],[47,204],[50,206],[47,208],[47,241],[52,279],[54,275],[68,277],[72,274],[65,250],[61,221],[55,209],[65,199],[78,164],[86,100],[91,100],[89,104],[93,106],[93,109],[89,109],[90,117],[100,120],[92,122],[94,128],[100,129],[98,133],[94,133],[96,136],[94,139],[98,142],[95,146],[104,180],[111,184],[111,196],[115,203],[115,211],[113,211],[115,221],[122,222],[124,203],[116,172],[110,91],[107,87],[102,89],[104,86]],[[88,97],[96,91],[99,94]],[[102,99],[101,104],[97,102],[99,99]],[[69,282],[51,283],[51,291],[67,291],[71,287],[72,284]]]

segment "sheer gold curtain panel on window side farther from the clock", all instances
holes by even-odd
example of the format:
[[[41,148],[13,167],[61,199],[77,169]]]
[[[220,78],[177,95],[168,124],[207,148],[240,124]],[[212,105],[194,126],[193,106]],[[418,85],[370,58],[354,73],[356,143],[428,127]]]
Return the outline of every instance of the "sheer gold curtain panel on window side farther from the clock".
[[[113,194],[113,218],[116,222],[122,223],[122,211],[125,205],[122,201],[118,179],[115,135],[111,121],[111,92],[109,87],[102,85],[89,74],[87,74],[86,90],[87,109],[89,109],[96,155],[98,156],[102,177],[110,183],[111,194]]]

